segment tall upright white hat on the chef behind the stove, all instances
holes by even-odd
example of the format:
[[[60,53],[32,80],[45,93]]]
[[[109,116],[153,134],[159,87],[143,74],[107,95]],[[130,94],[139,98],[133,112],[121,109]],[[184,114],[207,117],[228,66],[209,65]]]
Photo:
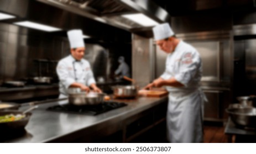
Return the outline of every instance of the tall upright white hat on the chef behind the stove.
[[[67,36],[69,37],[70,48],[85,47],[82,30],[69,30],[67,31]]]

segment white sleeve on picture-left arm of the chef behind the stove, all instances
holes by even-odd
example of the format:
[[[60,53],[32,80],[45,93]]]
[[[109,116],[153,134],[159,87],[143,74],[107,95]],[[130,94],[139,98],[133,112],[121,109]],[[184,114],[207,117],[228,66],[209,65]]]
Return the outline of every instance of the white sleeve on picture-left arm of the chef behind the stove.
[[[59,62],[56,68],[56,72],[59,76],[59,80],[62,84],[64,84],[65,88],[68,89],[72,83],[75,83],[75,79],[73,79],[69,75],[69,70],[67,65],[64,62]]]

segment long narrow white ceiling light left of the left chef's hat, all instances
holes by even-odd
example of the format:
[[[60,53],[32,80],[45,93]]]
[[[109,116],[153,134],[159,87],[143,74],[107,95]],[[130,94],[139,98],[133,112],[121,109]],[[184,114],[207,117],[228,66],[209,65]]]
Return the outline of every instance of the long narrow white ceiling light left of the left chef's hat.
[[[61,29],[56,28],[56,27],[47,26],[47,25],[43,25],[43,24],[38,24],[38,23],[31,22],[31,21],[21,21],[21,22],[17,22],[17,23],[14,23],[14,24],[19,25],[19,26],[29,27],[29,28],[32,28],[32,29],[48,31],[48,32],[61,30]]]

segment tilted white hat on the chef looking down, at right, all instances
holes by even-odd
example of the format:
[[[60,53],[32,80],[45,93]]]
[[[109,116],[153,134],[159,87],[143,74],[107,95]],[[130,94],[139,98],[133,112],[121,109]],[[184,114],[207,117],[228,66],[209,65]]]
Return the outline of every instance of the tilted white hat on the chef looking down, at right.
[[[156,25],[153,27],[153,33],[156,41],[163,40],[174,35],[174,32],[168,23]]]

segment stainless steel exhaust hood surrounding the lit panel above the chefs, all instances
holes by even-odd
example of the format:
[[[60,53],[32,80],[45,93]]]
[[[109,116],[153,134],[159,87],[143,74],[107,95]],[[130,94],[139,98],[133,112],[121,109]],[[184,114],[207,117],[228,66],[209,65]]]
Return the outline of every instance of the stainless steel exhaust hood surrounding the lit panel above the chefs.
[[[169,22],[169,14],[150,0],[37,0],[130,32],[151,29],[123,15],[142,13],[156,24]],[[145,23],[146,24],[146,23]]]

